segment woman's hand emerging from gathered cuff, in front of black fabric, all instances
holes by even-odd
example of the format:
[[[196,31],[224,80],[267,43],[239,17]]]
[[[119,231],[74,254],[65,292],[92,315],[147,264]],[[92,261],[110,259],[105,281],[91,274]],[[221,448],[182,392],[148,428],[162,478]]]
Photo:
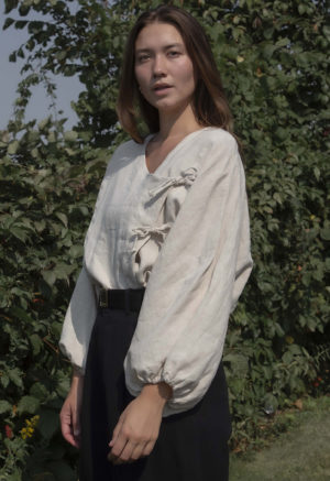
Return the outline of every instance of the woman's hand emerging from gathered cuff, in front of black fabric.
[[[158,437],[163,408],[170,394],[172,389],[166,383],[143,387],[122,412],[113,429],[109,461],[122,464],[151,453]]]

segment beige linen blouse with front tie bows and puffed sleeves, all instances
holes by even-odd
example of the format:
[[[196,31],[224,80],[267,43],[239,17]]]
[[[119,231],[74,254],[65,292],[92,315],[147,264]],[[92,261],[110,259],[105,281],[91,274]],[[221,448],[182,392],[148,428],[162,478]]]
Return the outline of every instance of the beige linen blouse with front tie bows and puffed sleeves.
[[[109,162],[59,347],[84,372],[99,287],[145,286],[125,383],[134,396],[145,383],[168,383],[168,416],[208,390],[252,259],[234,138],[213,127],[193,132],[151,174],[151,136],[122,144]]]

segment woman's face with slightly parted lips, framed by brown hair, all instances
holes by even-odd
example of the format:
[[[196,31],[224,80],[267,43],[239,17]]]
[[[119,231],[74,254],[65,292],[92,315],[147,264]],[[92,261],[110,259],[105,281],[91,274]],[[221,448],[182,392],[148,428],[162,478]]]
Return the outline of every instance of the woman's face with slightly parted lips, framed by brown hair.
[[[135,77],[143,97],[160,112],[177,112],[196,87],[194,65],[180,33],[169,23],[151,23],[135,42]]]

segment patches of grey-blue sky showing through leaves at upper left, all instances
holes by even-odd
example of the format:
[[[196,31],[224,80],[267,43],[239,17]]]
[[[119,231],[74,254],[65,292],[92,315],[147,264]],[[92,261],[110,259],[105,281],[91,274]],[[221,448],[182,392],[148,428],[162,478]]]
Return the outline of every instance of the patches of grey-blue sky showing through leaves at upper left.
[[[1,1],[2,3],[2,1]],[[4,130],[8,121],[13,113],[13,102],[16,96],[16,86],[20,81],[20,70],[24,65],[24,59],[19,58],[16,63],[9,62],[8,57],[15,48],[22,45],[29,34],[25,29],[16,30],[10,26],[6,31],[2,25],[6,20],[3,13],[3,3],[0,7],[0,130]],[[19,20],[20,15],[13,11],[8,17]],[[42,15],[36,12],[29,14],[29,20],[40,20]],[[72,100],[77,100],[79,92],[82,89],[77,77],[53,77],[57,85],[57,106],[64,111],[64,116],[68,120],[65,123],[66,129],[70,129],[77,121],[77,116],[70,107]],[[26,109],[26,120],[42,120],[50,114],[50,99],[46,97],[42,86],[35,86],[32,90],[33,95]]]

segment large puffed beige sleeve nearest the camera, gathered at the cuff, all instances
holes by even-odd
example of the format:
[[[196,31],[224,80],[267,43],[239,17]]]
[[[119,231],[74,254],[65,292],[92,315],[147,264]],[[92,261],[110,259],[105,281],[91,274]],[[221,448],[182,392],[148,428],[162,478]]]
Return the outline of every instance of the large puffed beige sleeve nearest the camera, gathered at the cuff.
[[[226,134],[204,160],[150,275],[124,361],[132,395],[146,383],[168,383],[163,416],[202,398],[251,270],[244,171]]]

